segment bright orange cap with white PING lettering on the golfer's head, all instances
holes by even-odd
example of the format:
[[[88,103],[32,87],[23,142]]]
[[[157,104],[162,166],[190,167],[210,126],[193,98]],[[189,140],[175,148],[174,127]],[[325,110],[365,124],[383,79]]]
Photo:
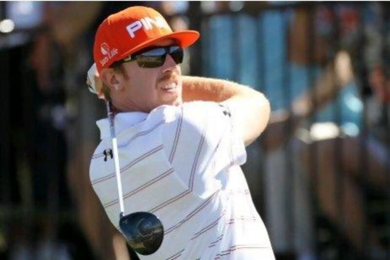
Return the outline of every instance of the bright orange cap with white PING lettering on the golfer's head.
[[[110,15],[100,24],[95,35],[94,60],[98,72],[114,61],[167,38],[176,40],[180,47],[185,48],[199,38],[199,32],[173,32],[160,13],[145,6],[129,7]]]

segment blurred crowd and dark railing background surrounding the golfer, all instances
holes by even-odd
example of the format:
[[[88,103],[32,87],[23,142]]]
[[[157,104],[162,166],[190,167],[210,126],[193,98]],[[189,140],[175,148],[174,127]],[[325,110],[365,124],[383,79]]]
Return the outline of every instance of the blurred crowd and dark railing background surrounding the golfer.
[[[105,106],[85,80],[132,5],[201,32],[183,74],[271,101],[243,170],[276,259],[390,259],[390,4],[274,1],[0,2],[0,259],[130,258],[89,182]]]

